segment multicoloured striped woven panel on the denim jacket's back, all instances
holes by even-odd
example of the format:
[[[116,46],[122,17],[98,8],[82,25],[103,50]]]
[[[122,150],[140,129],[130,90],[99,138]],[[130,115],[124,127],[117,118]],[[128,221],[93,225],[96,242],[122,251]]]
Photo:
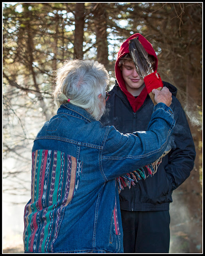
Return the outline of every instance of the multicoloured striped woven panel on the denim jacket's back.
[[[78,188],[82,162],[57,150],[32,153],[32,194],[24,210],[24,250],[53,252],[61,214]]]

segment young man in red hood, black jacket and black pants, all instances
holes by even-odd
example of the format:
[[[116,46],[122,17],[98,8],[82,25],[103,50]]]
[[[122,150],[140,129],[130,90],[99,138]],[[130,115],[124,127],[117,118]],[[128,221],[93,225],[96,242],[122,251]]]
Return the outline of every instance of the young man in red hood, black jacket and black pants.
[[[118,52],[116,85],[108,92],[106,113],[101,118],[103,125],[113,125],[124,134],[146,130],[154,107],[129,54],[129,40],[137,36],[153,62],[154,71],[157,70],[158,59],[150,42],[138,33],[130,36]],[[171,108],[176,125],[166,155],[158,160],[158,164],[153,164],[154,172],[156,169],[157,172],[152,178],[120,192],[125,253],[169,252],[171,194],[189,177],[194,165],[195,147],[185,113],[176,98],[177,89],[168,82],[163,84],[172,93]]]

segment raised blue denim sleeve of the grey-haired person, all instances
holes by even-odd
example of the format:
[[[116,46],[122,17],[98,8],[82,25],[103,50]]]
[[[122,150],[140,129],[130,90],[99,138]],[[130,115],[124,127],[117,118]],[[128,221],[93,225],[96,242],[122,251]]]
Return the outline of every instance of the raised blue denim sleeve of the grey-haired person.
[[[158,159],[167,146],[174,125],[171,108],[159,103],[153,108],[147,131],[122,134],[110,126],[102,152],[102,171],[107,180]]]

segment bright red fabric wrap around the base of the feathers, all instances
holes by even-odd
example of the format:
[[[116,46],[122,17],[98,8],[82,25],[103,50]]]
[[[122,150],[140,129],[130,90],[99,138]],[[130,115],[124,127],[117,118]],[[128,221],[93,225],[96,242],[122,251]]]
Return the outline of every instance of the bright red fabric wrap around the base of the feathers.
[[[157,71],[155,71],[154,73],[152,73],[144,78],[144,84],[146,86],[148,94],[150,94],[150,92],[152,92],[153,89],[163,87],[163,82],[160,77],[160,74],[157,73],[158,74],[158,77],[157,77],[156,73],[157,73]]]

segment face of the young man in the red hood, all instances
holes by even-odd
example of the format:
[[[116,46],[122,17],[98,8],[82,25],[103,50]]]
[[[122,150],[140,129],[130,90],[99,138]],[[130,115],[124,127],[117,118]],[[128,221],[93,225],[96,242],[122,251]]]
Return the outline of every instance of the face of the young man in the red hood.
[[[121,70],[128,92],[133,96],[138,96],[145,85],[144,80],[140,79],[136,72],[134,62],[126,60],[122,65]]]

